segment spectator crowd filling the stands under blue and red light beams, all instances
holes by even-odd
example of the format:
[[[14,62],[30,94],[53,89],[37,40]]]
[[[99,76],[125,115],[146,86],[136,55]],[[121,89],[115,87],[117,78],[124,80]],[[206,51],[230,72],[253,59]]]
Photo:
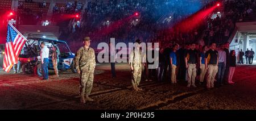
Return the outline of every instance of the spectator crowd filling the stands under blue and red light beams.
[[[42,2],[42,6],[44,3],[45,1]],[[90,36],[96,40],[92,43],[94,47],[99,42],[108,42],[110,37],[125,43],[141,39],[144,42],[160,41],[163,45],[168,45],[170,42],[185,45],[191,41],[203,41],[205,45],[209,45],[211,42],[221,44],[228,41],[235,22],[245,20],[247,16],[253,15],[256,9],[255,0],[227,0],[224,1],[224,10],[216,18],[205,20],[203,26],[198,24],[192,27],[191,24],[185,24],[187,28],[192,28],[186,32],[181,32],[181,28],[176,26],[203,7],[213,6],[213,3],[216,3],[216,0],[209,1],[207,6],[200,5],[200,0],[110,0],[107,3],[96,0],[89,1],[85,5],[71,1],[53,7],[53,13],[82,13],[79,25],[73,26],[75,29],[64,27],[67,24],[60,27],[60,38],[69,42],[80,40],[82,36]],[[22,7],[22,3],[19,7]],[[83,8],[85,8],[84,12],[81,12]],[[23,9],[26,11],[26,15],[23,16],[34,16],[31,20],[42,19],[43,12],[35,15],[29,8]],[[139,15],[133,16],[135,12]]]

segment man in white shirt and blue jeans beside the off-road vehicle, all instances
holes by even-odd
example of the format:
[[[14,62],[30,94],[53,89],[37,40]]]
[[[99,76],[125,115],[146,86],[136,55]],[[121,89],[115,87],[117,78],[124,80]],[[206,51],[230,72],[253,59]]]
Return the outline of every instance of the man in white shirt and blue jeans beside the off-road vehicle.
[[[48,64],[49,64],[49,48],[46,47],[46,43],[41,43],[41,51],[40,51],[40,57],[41,57],[41,66],[42,66],[42,74],[43,74],[43,80],[48,80]]]

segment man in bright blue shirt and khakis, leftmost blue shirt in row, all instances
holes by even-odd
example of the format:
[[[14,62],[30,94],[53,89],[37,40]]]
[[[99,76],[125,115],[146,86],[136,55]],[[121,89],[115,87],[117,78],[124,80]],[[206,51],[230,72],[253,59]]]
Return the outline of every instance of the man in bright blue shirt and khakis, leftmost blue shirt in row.
[[[177,68],[177,56],[176,51],[178,49],[178,45],[175,44],[172,52],[170,53],[170,64],[171,64],[171,82],[172,84],[176,84],[176,68]]]

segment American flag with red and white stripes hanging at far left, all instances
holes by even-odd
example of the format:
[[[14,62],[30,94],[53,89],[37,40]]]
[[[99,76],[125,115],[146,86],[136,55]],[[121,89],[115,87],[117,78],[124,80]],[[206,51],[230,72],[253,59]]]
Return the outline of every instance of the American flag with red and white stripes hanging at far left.
[[[3,70],[9,72],[13,65],[18,63],[19,53],[26,41],[26,37],[8,23]]]

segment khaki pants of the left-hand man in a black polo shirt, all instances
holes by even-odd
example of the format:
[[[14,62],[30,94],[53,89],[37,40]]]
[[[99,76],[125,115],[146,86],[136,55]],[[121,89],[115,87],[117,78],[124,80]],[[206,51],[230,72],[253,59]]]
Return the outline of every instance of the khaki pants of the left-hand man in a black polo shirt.
[[[188,64],[188,86],[195,85],[196,78],[196,64]]]

